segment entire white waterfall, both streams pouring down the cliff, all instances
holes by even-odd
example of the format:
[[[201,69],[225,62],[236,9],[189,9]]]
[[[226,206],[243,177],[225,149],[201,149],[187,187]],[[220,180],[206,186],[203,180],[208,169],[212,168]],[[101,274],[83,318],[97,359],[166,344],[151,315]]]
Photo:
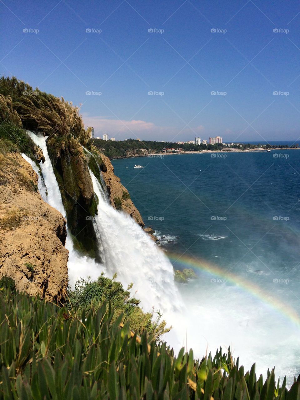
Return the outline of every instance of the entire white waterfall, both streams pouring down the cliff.
[[[40,165],[40,171],[35,163],[28,157],[32,168],[36,170],[41,182],[44,180],[46,191],[40,192],[43,200],[56,208],[66,217],[58,183],[56,181],[52,164],[48,155],[46,140],[32,132],[28,132],[34,143],[39,146],[44,154],[45,162]],[[25,158],[24,157],[24,158]],[[173,266],[146,232],[128,215],[115,210],[108,202],[98,179],[89,170],[98,198],[98,215],[93,218],[93,226],[98,239],[98,248],[103,264],[80,256],[74,249],[72,237],[68,231],[66,248],[69,250],[68,274],[71,286],[80,277],[90,276],[97,279],[104,271],[112,277],[117,273],[118,280],[127,288],[133,282],[132,293],[141,300],[145,312],[154,309],[160,311],[166,319],[168,326],[176,326],[166,339],[177,351],[183,344],[184,311],[181,296],[174,282]],[[39,188],[40,190],[40,188]]]

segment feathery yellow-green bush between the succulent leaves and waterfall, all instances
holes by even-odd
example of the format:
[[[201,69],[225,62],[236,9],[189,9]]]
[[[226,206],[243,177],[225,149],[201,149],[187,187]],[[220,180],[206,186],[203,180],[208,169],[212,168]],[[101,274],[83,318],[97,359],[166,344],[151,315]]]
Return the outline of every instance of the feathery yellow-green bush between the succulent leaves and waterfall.
[[[157,318],[153,320],[154,310],[144,312],[139,307],[140,300],[130,297],[129,290],[133,284],[131,283],[127,290],[124,290],[122,284],[116,281],[116,277],[115,274],[112,279],[109,279],[102,272],[96,281],[78,280],[74,290],[70,290],[70,287],[68,289],[69,310],[76,310],[81,318],[84,310],[93,308],[97,312],[106,301],[110,302],[114,309],[112,320],[116,320],[120,314],[123,314],[122,321],[129,321],[130,329],[137,334],[146,331],[150,342],[159,340],[164,333],[169,332],[170,328],[166,328],[166,321],[161,321],[160,312],[156,312]]]

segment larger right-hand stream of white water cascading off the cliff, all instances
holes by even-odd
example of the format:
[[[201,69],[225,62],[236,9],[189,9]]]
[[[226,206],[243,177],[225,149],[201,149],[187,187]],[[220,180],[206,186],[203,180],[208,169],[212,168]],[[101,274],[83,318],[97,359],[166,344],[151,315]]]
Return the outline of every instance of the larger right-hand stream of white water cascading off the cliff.
[[[118,274],[126,287],[134,283],[136,297],[144,311],[159,310],[168,324],[176,326],[168,333],[168,342],[175,350],[183,344],[184,306],[174,282],[173,266],[148,234],[128,215],[108,204],[98,179],[90,170],[93,188],[98,197],[98,215],[93,218],[103,263],[108,273]],[[180,324],[181,320],[181,324]]]

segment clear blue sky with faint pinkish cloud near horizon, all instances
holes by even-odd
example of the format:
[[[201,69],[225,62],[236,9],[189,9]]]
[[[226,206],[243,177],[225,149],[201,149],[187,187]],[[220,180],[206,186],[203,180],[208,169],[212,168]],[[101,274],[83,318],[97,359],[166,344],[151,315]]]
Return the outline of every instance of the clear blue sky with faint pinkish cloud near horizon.
[[[81,105],[95,136],[300,137],[300,3],[0,0],[0,73]]]

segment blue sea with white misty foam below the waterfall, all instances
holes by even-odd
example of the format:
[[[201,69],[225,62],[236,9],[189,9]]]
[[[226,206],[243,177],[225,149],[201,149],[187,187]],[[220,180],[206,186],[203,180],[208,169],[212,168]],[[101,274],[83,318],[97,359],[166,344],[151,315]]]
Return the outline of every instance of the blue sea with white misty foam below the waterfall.
[[[174,269],[196,273],[178,284],[189,323],[182,344],[200,358],[230,346],[246,370],[256,362],[266,377],[275,366],[292,384],[300,374],[300,150],[112,164]]]

